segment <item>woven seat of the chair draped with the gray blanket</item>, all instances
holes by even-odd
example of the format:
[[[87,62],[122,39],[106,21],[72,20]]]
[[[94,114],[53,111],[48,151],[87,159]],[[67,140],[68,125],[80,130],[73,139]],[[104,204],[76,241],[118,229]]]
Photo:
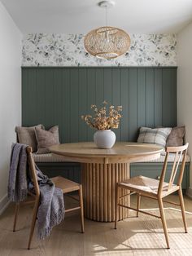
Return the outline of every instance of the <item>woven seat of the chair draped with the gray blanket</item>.
[[[62,176],[56,176],[54,178],[51,178],[51,180],[55,183],[56,188],[61,188],[63,190],[63,193],[68,193],[80,189],[79,183],[75,183],[72,180],[65,179]]]

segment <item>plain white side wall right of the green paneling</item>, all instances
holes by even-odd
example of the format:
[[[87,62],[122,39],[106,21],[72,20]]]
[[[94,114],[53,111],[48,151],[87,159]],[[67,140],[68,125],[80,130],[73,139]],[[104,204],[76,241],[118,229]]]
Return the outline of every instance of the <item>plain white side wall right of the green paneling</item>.
[[[192,23],[178,33],[177,47],[177,121],[178,125],[186,127],[192,157]],[[192,196],[192,168],[188,194]]]

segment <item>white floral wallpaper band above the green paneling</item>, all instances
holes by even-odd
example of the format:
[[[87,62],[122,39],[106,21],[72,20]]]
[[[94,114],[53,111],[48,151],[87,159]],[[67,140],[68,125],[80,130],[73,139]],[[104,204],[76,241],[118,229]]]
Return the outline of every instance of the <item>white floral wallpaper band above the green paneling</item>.
[[[129,34],[125,55],[102,60],[89,55],[83,34],[29,33],[23,39],[23,66],[177,66],[175,34]]]

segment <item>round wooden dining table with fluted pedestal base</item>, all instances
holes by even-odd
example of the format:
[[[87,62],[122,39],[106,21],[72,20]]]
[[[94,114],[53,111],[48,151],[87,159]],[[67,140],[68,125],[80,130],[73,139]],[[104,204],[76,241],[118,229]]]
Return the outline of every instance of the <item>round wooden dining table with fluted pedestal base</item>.
[[[116,183],[129,179],[129,163],[160,157],[164,149],[155,144],[117,142],[111,149],[100,149],[92,142],[63,143],[50,147],[50,152],[65,161],[81,162],[85,217],[101,222],[115,220]],[[121,195],[124,195],[122,190]],[[122,199],[129,205],[129,197]],[[120,219],[129,210],[120,207]]]

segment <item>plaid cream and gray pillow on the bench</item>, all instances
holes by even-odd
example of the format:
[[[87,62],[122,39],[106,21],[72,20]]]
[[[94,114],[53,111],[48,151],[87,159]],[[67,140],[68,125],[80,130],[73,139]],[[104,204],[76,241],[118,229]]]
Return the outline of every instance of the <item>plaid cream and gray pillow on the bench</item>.
[[[139,130],[139,136],[137,142],[139,143],[151,143],[165,147],[166,140],[170,134],[172,128],[155,128],[141,127]]]

